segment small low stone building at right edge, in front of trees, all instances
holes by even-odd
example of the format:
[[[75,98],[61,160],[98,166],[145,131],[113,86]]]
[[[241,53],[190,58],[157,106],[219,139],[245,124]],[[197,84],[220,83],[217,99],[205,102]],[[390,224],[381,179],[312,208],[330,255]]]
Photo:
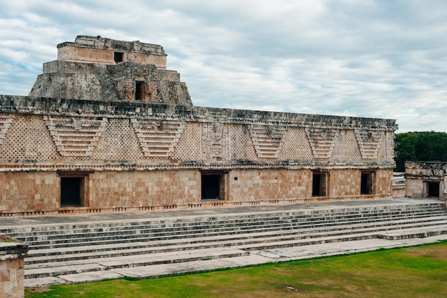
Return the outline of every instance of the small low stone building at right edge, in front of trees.
[[[406,197],[447,199],[447,162],[405,162]]]

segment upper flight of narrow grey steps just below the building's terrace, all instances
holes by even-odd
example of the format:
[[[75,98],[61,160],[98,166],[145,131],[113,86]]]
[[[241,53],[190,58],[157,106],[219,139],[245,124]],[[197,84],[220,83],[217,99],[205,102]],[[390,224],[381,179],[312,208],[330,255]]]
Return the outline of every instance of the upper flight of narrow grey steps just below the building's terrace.
[[[294,228],[296,226],[309,227],[306,224],[316,224],[320,226],[322,224],[331,224],[333,222],[356,222],[358,220],[366,220],[371,218],[372,221],[383,221],[391,220],[397,218],[416,218],[416,217],[433,217],[436,214],[445,214],[443,209],[438,209],[433,211],[424,211],[422,208],[416,210],[410,210],[406,212],[376,212],[373,214],[362,214],[361,212],[334,212],[331,214],[323,214],[323,216],[313,216],[313,214],[291,214],[291,215],[274,215],[270,217],[252,217],[252,218],[237,218],[236,219],[216,219],[208,218],[201,219],[201,222],[186,221],[186,220],[174,220],[174,221],[149,221],[141,222],[139,224],[135,223],[102,223],[102,224],[77,224],[77,225],[61,225],[59,227],[28,227],[22,228],[23,231],[11,231],[11,230],[1,230],[1,233],[9,234],[12,237],[16,237],[26,241],[28,243],[33,243],[33,245],[44,245],[44,244],[57,244],[57,240],[69,239],[69,241],[76,242],[76,238],[81,237],[81,239],[94,237],[104,240],[106,237],[127,237],[126,235],[147,235],[151,234],[152,237],[164,236],[169,234],[174,237],[175,234],[180,234],[184,237],[184,234],[200,234],[209,232],[238,232],[247,231],[249,229],[258,229],[258,227],[280,227],[281,229]],[[92,227],[93,226],[93,227]],[[56,228],[56,230],[55,230]],[[31,230],[31,231],[28,231]],[[193,236],[194,237],[194,236]],[[62,242],[66,243],[66,242]]]

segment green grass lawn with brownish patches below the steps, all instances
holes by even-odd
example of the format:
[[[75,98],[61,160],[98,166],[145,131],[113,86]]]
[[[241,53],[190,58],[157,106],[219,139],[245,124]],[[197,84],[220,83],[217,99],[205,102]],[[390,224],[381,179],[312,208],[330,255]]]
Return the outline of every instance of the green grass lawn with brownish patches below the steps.
[[[187,274],[26,289],[37,297],[447,297],[447,242]]]

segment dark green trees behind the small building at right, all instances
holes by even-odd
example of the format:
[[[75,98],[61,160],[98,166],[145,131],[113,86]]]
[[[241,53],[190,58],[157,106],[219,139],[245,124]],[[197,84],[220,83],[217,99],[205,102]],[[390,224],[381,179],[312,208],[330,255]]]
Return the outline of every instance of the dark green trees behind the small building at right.
[[[447,162],[447,134],[413,131],[395,135],[396,172],[405,172],[406,161]]]

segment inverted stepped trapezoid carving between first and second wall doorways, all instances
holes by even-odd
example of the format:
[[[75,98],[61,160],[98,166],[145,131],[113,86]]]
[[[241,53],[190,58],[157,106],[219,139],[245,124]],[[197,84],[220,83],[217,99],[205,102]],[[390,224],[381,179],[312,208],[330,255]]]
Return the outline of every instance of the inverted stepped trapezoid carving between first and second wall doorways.
[[[185,129],[184,121],[131,121],[145,157],[170,157]]]

